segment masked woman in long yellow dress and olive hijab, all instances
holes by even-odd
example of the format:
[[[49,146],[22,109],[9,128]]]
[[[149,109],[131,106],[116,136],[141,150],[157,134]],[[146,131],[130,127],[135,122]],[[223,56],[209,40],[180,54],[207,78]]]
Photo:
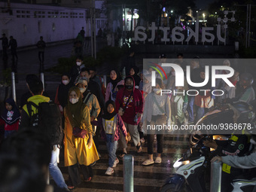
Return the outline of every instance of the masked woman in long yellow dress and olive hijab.
[[[69,189],[74,189],[81,183],[78,164],[81,167],[84,181],[91,181],[93,170],[91,163],[99,160],[96,146],[93,142],[93,129],[90,123],[90,111],[82,101],[81,90],[71,87],[69,90],[69,102],[64,108],[64,160],[69,170]],[[85,138],[75,137],[73,127],[79,127],[87,131]]]

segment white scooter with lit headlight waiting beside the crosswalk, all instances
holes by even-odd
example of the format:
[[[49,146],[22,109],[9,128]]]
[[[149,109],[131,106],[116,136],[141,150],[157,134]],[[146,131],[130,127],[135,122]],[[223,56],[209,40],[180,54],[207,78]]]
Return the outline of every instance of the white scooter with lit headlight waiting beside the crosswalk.
[[[212,136],[201,136],[197,143],[173,164],[175,173],[169,175],[160,192],[209,191],[209,157],[211,152],[209,148],[203,145],[203,141],[206,139],[212,139]],[[231,184],[233,185],[233,192],[253,191],[256,186],[256,178],[236,179]]]

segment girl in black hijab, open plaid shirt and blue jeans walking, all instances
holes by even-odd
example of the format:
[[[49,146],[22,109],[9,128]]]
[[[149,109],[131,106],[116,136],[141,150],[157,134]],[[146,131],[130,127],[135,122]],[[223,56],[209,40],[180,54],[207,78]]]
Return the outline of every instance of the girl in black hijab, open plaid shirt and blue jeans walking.
[[[123,120],[119,114],[115,111],[115,103],[114,101],[108,100],[105,103],[105,107],[107,111],[102,115],[102,138],[107,143],[108,148],[108,169],[105,172],[105,175],[112,175],[114,173],[113,167],[117,166],[119,160],[116,156],[117,151],[117,142],[120,139],[120,134],[125,136],[126,142],[127,139],[127,131],[126,127],[123,124]],[[120,133],[122,132],[122,133]]]

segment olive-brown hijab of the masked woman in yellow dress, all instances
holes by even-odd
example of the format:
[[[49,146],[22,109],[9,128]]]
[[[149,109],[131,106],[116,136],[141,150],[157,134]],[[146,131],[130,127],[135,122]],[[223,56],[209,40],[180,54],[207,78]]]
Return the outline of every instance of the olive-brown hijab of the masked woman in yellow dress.
[[[75,93],[78,95],[78,102],[75,104],[72,104],[69,102],[69,95],[72,92],[72,90],[75,91]],[[81,97],[81,92],[78,87],[71,87],[69,89],[69,95],[68,95],[68,104],[66,105],[66,111],[69,117],[70,122],[72,123],[72,126],[78,126],[81,127],[81,122],[84,117],[84,108],[87,107],[87,105],[84,104]]]

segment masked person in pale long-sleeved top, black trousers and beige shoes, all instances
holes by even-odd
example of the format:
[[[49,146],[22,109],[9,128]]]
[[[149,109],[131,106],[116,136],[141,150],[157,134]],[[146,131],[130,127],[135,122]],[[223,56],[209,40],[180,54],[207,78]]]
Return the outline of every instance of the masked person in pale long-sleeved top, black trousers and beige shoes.
[[[171,106],[169,97],[166,94],[161,96],[161,90],[164,90],[163,81],[156,79],[156,86],[153,87],[153,92],[149,93],[145,100],[145,110],[142,117],[141,125],[162,125],[168,122],[171,117]],[[157,158],[154,161],[154,135],[157,134]],[[161,154],[163,153],[163,136],[158,130],[147,130],[148,138],[148,160],[145,160],[142,165],[148,166],[153,163],[161,163]]]

